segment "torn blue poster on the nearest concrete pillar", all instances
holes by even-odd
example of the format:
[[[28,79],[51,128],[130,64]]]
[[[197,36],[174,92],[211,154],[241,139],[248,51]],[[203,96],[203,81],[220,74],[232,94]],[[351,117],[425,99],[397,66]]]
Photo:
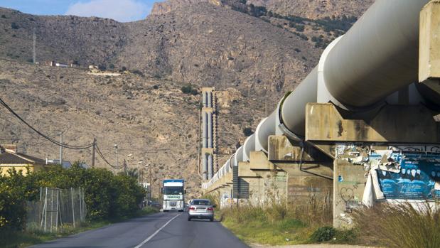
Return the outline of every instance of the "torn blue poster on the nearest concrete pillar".
[[[440,198],[439,156],[406,154],[394,158],[400,172],[377,170],[380,188],[387,199],[429,200]],[[439,182],[439,183],[436,183]]]

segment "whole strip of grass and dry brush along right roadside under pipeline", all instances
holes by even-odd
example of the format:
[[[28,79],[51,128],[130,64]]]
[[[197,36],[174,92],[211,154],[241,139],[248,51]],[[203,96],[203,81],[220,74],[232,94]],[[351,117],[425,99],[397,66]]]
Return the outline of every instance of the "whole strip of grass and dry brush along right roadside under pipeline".
[[[249,243],[358,244],[390,248],[440,247],[440,212],[428,203],[353,210],[353,229],[331,227],[331,212],[295,205],[244,205],[222,210],[222,224]]]

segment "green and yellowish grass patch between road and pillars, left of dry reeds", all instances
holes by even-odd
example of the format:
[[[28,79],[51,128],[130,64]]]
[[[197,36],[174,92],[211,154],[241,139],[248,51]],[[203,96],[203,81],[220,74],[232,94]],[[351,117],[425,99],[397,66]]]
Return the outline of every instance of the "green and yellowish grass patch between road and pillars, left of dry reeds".
[[[248,244],[305,244],[317,227],[331,225],[329,211],[325,204],[242,205],[222,210],[222,224]]]

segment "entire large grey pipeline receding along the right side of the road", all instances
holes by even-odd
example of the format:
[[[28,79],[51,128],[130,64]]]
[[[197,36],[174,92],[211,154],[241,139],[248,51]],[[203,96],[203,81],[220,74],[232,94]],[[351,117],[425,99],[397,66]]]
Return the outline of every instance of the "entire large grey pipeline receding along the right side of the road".
[[[234,166],[238,161],[248,161],[254,149],[267,151],[267,139],[275,134],[277,124],[296,136],[304,136],[305,107],[308,102],[318,102],[318,80],[328,91],[328,99],[319,102],[342,104],[351,110],[373,106],[417,82],[419,12],[428,2],[375,1],[343,37],[326,48],[321,66],[313,68],[294,92],[281,99],[278,108],[259,123],[256,133],[245,141],[245,149],[240,147],[243,151],[235,153]]]

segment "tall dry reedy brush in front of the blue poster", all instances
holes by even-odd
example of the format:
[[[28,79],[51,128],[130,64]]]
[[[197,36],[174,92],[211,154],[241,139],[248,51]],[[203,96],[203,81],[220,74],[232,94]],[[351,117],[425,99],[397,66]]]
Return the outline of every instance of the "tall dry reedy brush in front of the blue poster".
[[[440,212],[428,203],[375,205],[355,210],[353,222],[365,242],[390,248],[440,247]]]

